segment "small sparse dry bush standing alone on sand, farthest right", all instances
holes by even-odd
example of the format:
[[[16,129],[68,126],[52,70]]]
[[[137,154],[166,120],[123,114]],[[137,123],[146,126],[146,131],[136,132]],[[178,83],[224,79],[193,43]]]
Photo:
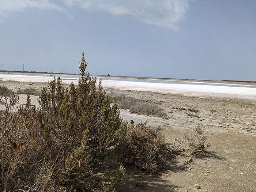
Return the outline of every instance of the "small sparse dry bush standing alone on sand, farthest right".
[[[188,133],[184,132],[184,138],[187,140],[189,145],[189,151],[191,155],[200,153],[204,151],[206,148],[210,147],[210,143],[206,144],[206,139],[208,136],[204,135],[205,128],[203,126],[195,126],[193,129],[194,133],[188,135]]]

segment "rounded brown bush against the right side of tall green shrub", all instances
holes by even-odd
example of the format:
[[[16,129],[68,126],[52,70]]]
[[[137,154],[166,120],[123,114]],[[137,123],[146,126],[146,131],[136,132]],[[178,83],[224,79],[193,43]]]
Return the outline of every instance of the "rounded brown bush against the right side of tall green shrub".
[[[150,173],[166,167],[170,157],[162,129],[146,126],[146,122],[131,127],[119,147],[122,148],[121,161]]]

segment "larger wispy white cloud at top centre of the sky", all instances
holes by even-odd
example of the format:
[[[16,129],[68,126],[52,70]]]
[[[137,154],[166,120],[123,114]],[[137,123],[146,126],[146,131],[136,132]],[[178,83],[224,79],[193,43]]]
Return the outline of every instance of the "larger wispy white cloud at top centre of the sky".
[[[130,15],[140,22],[179,30],[185,19],[188,0],[62,0],[68,7],[86,11],[104,11],[112,15]]]

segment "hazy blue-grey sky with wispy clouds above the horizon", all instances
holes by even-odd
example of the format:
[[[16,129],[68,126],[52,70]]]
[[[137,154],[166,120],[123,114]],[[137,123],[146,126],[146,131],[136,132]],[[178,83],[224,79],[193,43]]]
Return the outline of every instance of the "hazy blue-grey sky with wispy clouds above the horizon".
[[[0,0],[0,70],[256,80],[256,0]]]

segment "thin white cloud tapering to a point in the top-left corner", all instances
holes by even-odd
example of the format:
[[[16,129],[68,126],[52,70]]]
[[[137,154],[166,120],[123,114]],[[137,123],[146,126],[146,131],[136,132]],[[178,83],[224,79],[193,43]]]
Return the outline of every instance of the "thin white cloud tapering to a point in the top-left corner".
[[[27,8],[38,8],[40,10],[57,10],[73,18],[66,8],[60,7],[49,0],[0,0],[0,21],[12,12],[25,11]]]

